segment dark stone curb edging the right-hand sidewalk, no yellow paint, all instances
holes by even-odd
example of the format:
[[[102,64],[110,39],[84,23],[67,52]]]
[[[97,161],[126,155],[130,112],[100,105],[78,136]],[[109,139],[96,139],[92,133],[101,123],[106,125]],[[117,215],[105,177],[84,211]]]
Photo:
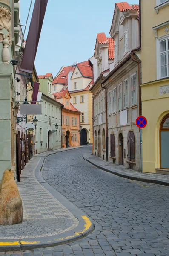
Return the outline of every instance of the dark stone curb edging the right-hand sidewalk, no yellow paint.
[[[84,160],[86,160],[87,162],[89,162],[92,165],[96,166],[97,168],[102,169],[103,171],[115,174],[115,175],[117,175],[119,177],[123,177],[123,178],[130,179],[130,180],[142,181],[142,182],[146,182],[146,183],[153,183],[153,184],[158,184],[158,185],[169,186],[169,181],[167,181],[167,180],[152,179],[152,178],[149,179],[149,178],[144,178],[144,177],[138,177],[138,176],[132,175],[132,174],[122,173],[122,172],[119,172],[117,170],[111,169],[109,167],[105,167],[103,165],[99,165],[95,161],[89,160],[89,158],[85,157],[84,155],[82,157],[83,157]]]

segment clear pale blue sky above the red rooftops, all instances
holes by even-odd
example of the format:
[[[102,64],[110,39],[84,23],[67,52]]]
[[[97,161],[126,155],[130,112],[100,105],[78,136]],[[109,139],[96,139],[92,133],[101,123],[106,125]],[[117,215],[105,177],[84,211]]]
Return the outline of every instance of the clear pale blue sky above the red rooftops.
[[[26,36],[34,2],[35,0],[32,2]],[[49,0],[35,60],[37,74],[52,73],[55,76],[60,67],[92,57],[97,33],[105,32],[109,36],[116,2]],[[127,2],[138,4],[138,0]],[[20,0],[22,25],[26,23],[30,3],[31,0]]]

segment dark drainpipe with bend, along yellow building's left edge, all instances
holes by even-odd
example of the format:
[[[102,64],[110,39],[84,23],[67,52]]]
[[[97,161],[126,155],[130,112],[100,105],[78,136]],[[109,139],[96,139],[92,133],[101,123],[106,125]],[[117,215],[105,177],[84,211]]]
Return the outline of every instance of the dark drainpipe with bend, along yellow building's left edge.
[[[139,100],[139,116],[142,115],[142,103],[141,103],[141,63],[140,61],[136,60],[134,58],[135,52],[139,51],[141,49],[141,0],[139,0],[139,47],[136,49],[133,49],[131,51],[131,58],[132,61],[135,61],[138,64],[138,100]],[[141,147],[141,172],[143,172],[143,148],[142,148],[142,129],[140,129],[140,147]]]

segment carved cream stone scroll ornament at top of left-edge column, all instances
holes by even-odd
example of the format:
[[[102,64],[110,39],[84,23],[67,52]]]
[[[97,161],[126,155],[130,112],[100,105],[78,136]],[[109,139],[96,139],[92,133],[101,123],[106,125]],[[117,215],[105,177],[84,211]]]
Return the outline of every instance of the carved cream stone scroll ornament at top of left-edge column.
[[[11,30],[11,12],[3,6],[0,6],[0,29]]]

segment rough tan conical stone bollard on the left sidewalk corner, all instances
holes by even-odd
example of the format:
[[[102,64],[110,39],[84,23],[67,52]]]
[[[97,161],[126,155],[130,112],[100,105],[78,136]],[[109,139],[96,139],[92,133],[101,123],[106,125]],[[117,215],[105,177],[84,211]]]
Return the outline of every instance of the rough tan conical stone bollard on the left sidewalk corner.
[[[13,225],[23,221],[22,199],[11,170],[3,173],[0,183],[0,225]]]

